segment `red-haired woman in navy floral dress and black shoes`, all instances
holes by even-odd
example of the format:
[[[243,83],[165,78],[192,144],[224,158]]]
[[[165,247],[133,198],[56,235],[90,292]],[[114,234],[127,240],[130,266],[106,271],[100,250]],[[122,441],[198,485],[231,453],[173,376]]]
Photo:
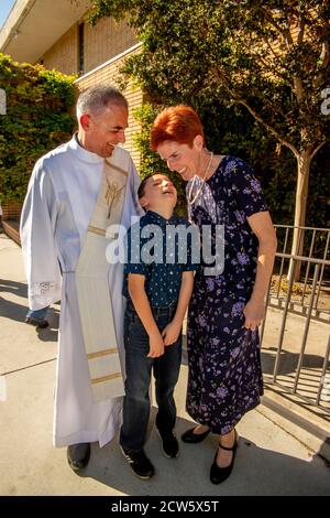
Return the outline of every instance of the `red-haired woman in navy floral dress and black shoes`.
[[[240,159],[210,153],[198,115],[187,106],[163,110],[151,147],[187,181],[189,218],[224,226],[224,268],[206,274],[201,262],[188,313],[187,411],[198,422],[182,439],[201,442],[219,434],[210,471],[213,484],[232,472],[234,427],[260,403],[263,381],[257,326],[273,270],[276,236],[258,182]]]

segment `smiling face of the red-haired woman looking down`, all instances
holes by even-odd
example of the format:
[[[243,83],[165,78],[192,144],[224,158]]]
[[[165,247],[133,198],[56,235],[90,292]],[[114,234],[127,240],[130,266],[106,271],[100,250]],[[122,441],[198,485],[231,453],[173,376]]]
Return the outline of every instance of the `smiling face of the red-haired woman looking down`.
[[[202,137],[194,139],[193,147],[166,140],[162,142],[157,152],[163,160],[166,160],[170,171],[176,171],[187,182],[197,174],[202,150]]]

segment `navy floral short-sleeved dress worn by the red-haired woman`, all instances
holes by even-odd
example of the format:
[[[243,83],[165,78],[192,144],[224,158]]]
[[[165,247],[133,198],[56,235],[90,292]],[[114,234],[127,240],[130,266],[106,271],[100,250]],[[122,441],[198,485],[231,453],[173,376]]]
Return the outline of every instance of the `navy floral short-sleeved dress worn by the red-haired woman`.
[[[229,433],[263,395],[257,331],[244,327],[243,309],[256,273],[257,239],[248,217],[267,211],[260,183],[240,159],[226,155],[213,175],[187,184],[189,218],[198,225],[224,225],[224,269],[207,277],[200,265],[188,326],[188,390],[191,418],[213,433]],[[194,197],[198,194],[197,198]]]

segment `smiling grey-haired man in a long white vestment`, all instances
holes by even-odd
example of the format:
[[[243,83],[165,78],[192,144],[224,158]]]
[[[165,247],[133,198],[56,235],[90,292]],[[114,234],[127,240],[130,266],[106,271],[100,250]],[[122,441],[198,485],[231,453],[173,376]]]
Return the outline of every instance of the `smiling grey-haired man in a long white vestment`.
[[[78,98],[77,118],[78,133],[35,164],[21,217],[29,306],[40,310],[62,301],[53,442],[68,446],[68,462],[75,471],[87,465],[90,443],[105,445],[121,424],[123,265],[110,267],[102,252],[97,251],[96,259],[90,256],[105,249],[106,227],[96,222],[100,203],[101,213],[110,217],[117,188],[109,184],[111,174],[125,182],[116,197],[117,223],[128,228],[131,217],[141,214],[140,176],[129,152],[118,147],[125,141],[128,127],[123,95],[114,87],[91,87]],[[111,199],[105,213],[101,190],[106,181],[110,194],[103,197],[107,203]],[[106,281],[97,276],[94,280],[95,262],[100,262]],[[98,343],[108,342],[99,332],[110,333],[109,343]],[[106,367],[98,364],[103,359]],[[94,361],[97,374],[92,374]]]

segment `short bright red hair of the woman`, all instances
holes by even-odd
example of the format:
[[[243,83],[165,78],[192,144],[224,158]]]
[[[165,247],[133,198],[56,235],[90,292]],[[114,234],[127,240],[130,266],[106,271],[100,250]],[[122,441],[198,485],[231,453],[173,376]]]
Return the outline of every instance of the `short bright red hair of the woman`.
[[[193,148],[197,134],[204,138],[202,125],[196,111],[185,105],[170,106],[155,118],[151,129],[151,148],[155,151],[166,140]]]

